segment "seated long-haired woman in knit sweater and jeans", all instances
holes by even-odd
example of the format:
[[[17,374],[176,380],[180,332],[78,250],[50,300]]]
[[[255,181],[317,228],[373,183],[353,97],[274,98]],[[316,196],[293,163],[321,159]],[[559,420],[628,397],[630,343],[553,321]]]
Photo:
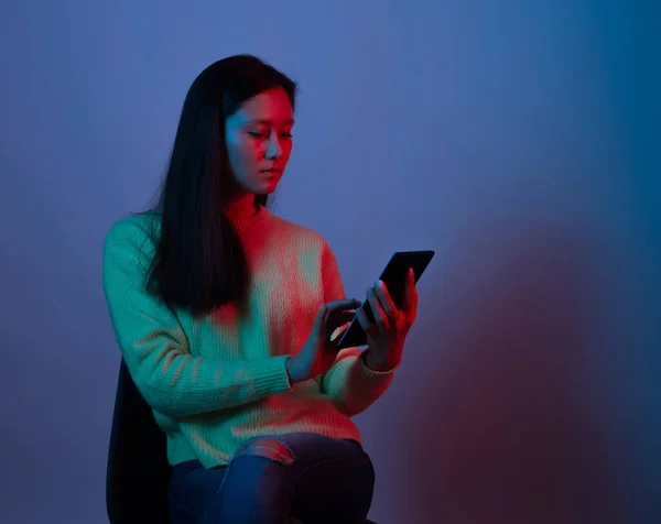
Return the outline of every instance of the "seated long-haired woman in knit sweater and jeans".
[[[167,437],[180,523],[362,523],[373,468],[351,416],[389,386],[418,307],[345,298],[317,232],[267,209],[292,152],[295,84],[249,55],[193,83],[158,205],[112,226],[104,288]],[[358,308],[358,309],[356,309]],[[368,349],[334,340],[357,315]]]

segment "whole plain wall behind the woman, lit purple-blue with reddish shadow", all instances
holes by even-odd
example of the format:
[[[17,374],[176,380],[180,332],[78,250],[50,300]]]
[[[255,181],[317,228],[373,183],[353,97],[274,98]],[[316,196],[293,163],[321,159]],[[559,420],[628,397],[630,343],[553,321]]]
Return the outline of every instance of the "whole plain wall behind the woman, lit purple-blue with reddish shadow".
[[[347,292],[394,250],[437,251],[405,363],[357,418],[372,517],[661,522],[660,20],[655,1],[3,2],[0,522],[106,522],[104,236],[152,196],[193,78],[238,52],[301,83],[275,212],[328,238]]]

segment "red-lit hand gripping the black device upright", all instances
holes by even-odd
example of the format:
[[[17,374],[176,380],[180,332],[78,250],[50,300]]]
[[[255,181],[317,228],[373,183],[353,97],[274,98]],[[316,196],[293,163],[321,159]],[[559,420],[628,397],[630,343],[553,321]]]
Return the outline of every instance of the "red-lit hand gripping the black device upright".
[[[404,341],[418,316],[418,291],[413,270],[407,273],[401,309],[395,307],[382,281],[367,290],[367,298],[375,315],[375,323],[369,321],[362,308],[356,310],[369,346],[364,353],[365,363],[373,371],[389,371],[402,360]]]

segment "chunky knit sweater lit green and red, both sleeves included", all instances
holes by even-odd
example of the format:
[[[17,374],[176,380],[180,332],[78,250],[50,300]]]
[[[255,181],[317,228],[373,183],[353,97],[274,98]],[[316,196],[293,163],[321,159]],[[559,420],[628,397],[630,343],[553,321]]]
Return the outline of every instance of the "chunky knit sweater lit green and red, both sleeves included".
[[[249,307],[228,304],[194,317],[147,291],[159,219],[137,215],[110,228],[104,290],[131,378],[166,435],[169,462],[226,465],[242,443],[263,435],[360,441],[350,417],[387,390],[393,371],[367,368],[359,348],[342,350],[328,371],[304,382],[291,384],[285,369],[321,305],[345,297],[326,240],[263,206],[232,220],[247,255]]]

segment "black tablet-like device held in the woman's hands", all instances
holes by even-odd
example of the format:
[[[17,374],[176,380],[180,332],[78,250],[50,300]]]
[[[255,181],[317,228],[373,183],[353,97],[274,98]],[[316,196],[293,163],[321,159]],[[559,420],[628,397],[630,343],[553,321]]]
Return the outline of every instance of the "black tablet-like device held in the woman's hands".
[[[404,290],[407,284],[407,271],[413,268],[415,283],[420,280],[424,270],[434,258],[434,251],[397,251],[392,254],[386,269],[381,272],[379,280],[383,281],[392,302],[399,309],[404,299]],[[362,303],[362,310],[370,323],[375,321],[375,314],[366,298]],[[339,336],[337,342],[338,349],[354,348],[367,345],[367,335],[360,326],[358,318],[354,318],[351,325]]]

